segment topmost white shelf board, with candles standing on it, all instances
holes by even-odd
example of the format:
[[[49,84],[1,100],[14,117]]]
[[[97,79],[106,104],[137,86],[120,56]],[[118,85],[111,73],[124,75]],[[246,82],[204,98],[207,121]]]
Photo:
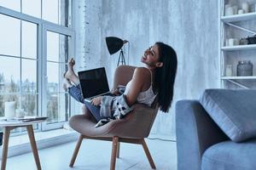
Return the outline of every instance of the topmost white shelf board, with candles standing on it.
[[[247,14],[234,14],[230,16],[222,16],[220,20],[224,22],[239,22],[243,20],[255,20],[256,13],[247,13]]]

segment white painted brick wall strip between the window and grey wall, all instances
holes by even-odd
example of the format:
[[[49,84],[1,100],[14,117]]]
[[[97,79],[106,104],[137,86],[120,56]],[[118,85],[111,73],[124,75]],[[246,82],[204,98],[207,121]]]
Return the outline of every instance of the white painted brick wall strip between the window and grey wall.
[[[76,31],[75,70],[83,71],[105,66],[102,61],[102,0],[74,1],[74,29]],[[74,114],[81,105],[73,99]]]

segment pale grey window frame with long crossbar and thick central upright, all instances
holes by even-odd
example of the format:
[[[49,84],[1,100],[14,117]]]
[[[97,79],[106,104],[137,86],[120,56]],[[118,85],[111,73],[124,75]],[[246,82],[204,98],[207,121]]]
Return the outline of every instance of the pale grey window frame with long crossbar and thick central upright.
[[[27,22],[31,22],[33,24],[37,25],[37,55],[38,55],[38,62],[37,62],[37,80],[38,80],[38,116],[45,116],[47,113],[45,110],[47,109],[47,98],[46,93],[45,93],[45,87],[46,87],[46,47],[47,47],[47,38],[46,38],[46,32],[47,31],[54,31],[59,34],[67,35],[71,40],[71,49],[70,49],[70,55],[68,58],[71,56],[74,56],[74,51],[75,51],[75,31],[74,31],[74,5],[73,1],[71,1],[71,26],[61,26],[57,25],[55,23],[51,23],[47,20],[43,19],[38,19],[36,17],[33,17],[28,14],[22,14],[20,12],[17,12],[13,9],[9,8],[4,8],[0,6],[0,14],[7,15],[9,17],[13,17],[18,20],[24,20]],[[69,116],[71,116],[72,111],[74,111],[74,105],[73,102],[70,100],[69,105]],[[55,129],[55,128],[60,128],[63,126],[63,123],[65,122],[55,122],[51,124],[47,124],[46,122],[39,123],[38,124],[38,130],[39,131],[44,131],[44,130],[49,130],[49,129]]]

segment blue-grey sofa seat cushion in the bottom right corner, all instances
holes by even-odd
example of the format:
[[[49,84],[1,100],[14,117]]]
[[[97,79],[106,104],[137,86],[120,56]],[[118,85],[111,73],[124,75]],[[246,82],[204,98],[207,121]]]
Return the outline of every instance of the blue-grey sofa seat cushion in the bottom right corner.
[[[231,140],[212,145],[202,156],[202,170],[255,170],[256,139],[243,143]]]

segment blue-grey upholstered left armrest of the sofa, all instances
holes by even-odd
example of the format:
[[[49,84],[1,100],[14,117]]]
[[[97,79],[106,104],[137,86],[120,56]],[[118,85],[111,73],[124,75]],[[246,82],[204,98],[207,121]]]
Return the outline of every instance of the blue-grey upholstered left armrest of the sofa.
[[[176,135],[179,170],[200,170],[204,151],[228,139],[197,100],[177,101]]]

